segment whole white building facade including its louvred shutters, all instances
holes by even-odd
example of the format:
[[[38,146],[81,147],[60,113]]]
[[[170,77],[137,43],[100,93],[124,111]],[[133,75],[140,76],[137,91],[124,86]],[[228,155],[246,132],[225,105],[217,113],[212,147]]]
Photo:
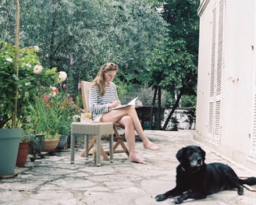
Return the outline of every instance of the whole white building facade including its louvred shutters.
[[[194,139],[256,171],[256,1],[201,0]]]

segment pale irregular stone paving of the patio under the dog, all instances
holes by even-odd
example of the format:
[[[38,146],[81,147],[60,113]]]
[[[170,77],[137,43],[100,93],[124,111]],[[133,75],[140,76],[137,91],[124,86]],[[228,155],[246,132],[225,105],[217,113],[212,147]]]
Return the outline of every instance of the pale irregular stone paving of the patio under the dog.
[[[175,186],[176,151],[188,144],[200,145],[206,151],[206,162],[220,161],[229,164],[237,175],[247,177],[256,171],[247,170],[228,161],[208,147],[193,140],[193,131],[149,131],[148,137],[162,147],[161,150],[144,150],[137,141],[137,154],[148,164],[135,164],[126,154],[114,154],[114,162],[101,161],[101,167],[85,162],[80,157],[82,147],[76,147],[75,164],[70,164],[70,151],[63,150],[55,156],[45,156],[31,162],[25,168],[16,168],[15,178],[0,180],[0,204],[6,205],[165,205],[172,200],[156,202],[154,197]],[[187,200],[190,205],[256,204],[256,193],[244,190],[238,196],[236,190],[223,191],[205,200]]]

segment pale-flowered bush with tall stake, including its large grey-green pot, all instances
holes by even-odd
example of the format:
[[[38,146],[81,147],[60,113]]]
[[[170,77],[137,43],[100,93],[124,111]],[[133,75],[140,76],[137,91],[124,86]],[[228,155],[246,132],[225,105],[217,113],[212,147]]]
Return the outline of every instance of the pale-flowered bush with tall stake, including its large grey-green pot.
[[[20,48],[20,2],[15,3],[15,45],[0,41],[0,175],[14,175],[24,113],[32,94],[58,79],[56,69],[42,70],[37,46]]]

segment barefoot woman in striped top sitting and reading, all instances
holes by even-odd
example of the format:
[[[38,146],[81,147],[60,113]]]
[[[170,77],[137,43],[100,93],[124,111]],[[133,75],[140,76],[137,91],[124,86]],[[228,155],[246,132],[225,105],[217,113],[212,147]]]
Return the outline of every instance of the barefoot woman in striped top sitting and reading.
[[[151,143],[144,135],[137,111],[133,106],[125,108],[116,108],[121,102],[116,91],[115,83],[112,80],[118,72],[118,66],[115,63],[108,62],[101,66],[98,75],[94,79],[94,85],[91,87],[89,101],[90,108],[95,121],[100,122],[119,122],[125,126],[126,142],[129,149],[129,160],[140,164],[147,164],[143,159],[137,157],[135,153],[135,132],[138,133],[143,141],[144,148],[150,150],[159,150],[160,147]]]

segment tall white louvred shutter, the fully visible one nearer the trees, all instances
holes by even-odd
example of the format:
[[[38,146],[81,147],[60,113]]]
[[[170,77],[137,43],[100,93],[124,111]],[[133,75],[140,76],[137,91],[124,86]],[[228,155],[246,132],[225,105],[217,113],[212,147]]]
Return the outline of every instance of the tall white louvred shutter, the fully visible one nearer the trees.
[[[219,0],[219,4],[212,11],[212,62],[209,87],[207,140],[217,144],[220,143],[222,119],[224,5],[224,0]]]

